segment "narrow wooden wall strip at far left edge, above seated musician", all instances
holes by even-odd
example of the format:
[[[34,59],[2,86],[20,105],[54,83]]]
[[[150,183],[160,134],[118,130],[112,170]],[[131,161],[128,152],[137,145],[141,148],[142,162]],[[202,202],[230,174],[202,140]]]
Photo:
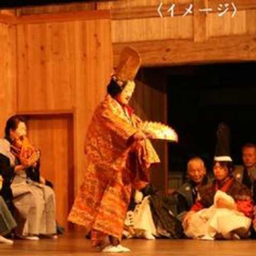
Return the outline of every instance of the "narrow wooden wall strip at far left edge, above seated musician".
[[[0,134],[4,135],[6,120],[15,113],[16,30],[0,23]]]

